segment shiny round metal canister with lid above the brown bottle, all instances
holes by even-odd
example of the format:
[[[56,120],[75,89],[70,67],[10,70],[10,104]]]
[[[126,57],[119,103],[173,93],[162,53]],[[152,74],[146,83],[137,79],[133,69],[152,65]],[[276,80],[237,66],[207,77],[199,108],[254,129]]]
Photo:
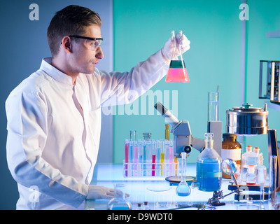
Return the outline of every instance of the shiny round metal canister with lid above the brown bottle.
[[[240,135],[267,134],[267,104],[263,110],[259,107],[252,107],[251,104],[243,104],[233,107],[226,113],[226,132]]]

